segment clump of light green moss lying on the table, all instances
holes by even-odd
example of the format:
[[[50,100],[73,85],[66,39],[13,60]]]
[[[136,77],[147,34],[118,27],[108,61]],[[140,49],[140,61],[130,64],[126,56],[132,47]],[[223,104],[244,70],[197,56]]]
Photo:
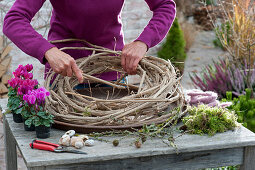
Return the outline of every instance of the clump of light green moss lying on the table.
[[[186,130],[192,134],[214,135],[238,126],[237,117],[228,109],[199,105],[190,107],[189,116],[182,119]]]

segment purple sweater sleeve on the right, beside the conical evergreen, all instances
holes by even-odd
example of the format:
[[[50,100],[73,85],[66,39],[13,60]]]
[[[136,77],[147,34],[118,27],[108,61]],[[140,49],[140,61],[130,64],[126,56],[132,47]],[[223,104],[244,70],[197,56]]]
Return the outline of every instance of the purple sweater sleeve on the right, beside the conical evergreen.
[[[173,0],[145,0],[153,17],[136,39],[147,44],[148,48],[157,45],[168,33],[176,15]]]

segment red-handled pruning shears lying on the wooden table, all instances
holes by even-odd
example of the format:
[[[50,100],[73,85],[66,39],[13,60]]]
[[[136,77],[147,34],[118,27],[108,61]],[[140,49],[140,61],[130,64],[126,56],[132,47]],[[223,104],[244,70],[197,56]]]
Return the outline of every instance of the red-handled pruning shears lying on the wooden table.
[[[86,152],[74,150],[74,149],[68,149],[67,147],[60,146],[55,143],[40,141],[40,140],[33,140],[32,143],[29,144],[32,149],[40,149],[45,151],[51,151],[51,152],[68,152],[68,153],[76,153],[76,154],[87,154]]]

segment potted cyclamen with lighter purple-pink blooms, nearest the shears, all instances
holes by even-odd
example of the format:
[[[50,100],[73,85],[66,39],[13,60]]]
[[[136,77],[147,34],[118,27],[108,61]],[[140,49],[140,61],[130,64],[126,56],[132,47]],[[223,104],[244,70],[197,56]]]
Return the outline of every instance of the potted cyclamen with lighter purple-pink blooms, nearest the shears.
[[[50,137],[50,127],[53,123],[53,115],[45,109],[45,98],[50,93],[44,88],[34,89],[23,96],[25,108],[23,115],[26,117],[25,125],[35,126],[37,138]]]

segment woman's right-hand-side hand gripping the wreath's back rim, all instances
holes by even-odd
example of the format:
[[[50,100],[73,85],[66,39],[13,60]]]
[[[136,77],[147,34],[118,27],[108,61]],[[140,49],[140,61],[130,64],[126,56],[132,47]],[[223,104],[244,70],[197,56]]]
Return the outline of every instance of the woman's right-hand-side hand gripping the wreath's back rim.
[[[121,65],[128,74],[136,74],[137,65],[145,56],[147,49],[147,45],[142,41],[135,41],[124,46],[121,55]]]

